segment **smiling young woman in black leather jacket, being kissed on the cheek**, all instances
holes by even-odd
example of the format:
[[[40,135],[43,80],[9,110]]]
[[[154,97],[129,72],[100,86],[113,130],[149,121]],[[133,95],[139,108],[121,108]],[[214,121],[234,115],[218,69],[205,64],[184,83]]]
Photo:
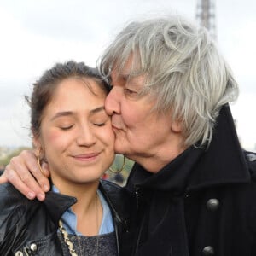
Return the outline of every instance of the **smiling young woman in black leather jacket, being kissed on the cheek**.
[[[44,202],[29,201],[1,185],[1,255],[119,255],[125,199],[100,182],[114,158],[107,94],[96,71],[74,61],[33,84],[32,142],[39,167],[49,165],[51,191]]]

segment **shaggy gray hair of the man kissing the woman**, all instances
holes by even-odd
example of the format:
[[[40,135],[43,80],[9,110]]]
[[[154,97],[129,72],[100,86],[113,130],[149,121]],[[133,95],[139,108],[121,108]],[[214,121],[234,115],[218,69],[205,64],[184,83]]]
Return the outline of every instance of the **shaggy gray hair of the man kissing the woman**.
[[[236,101],[238,86],[207,30],[180,16],[131,22],[102,55],[100,73],[110,78],[131,55],[130,76],[146,75],[142,93],[181,121],[184,146],[209,145],[219,110]]]

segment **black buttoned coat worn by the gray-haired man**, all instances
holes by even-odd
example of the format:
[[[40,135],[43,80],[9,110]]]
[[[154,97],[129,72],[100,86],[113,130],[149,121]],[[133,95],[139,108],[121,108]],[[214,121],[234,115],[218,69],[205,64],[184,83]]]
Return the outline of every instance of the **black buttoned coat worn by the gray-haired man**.
[[[131,255],[256,255],[256,154],[241,149],[228,106],[209,148],[156,174],[135,165],[126,189],[137,198]]]

